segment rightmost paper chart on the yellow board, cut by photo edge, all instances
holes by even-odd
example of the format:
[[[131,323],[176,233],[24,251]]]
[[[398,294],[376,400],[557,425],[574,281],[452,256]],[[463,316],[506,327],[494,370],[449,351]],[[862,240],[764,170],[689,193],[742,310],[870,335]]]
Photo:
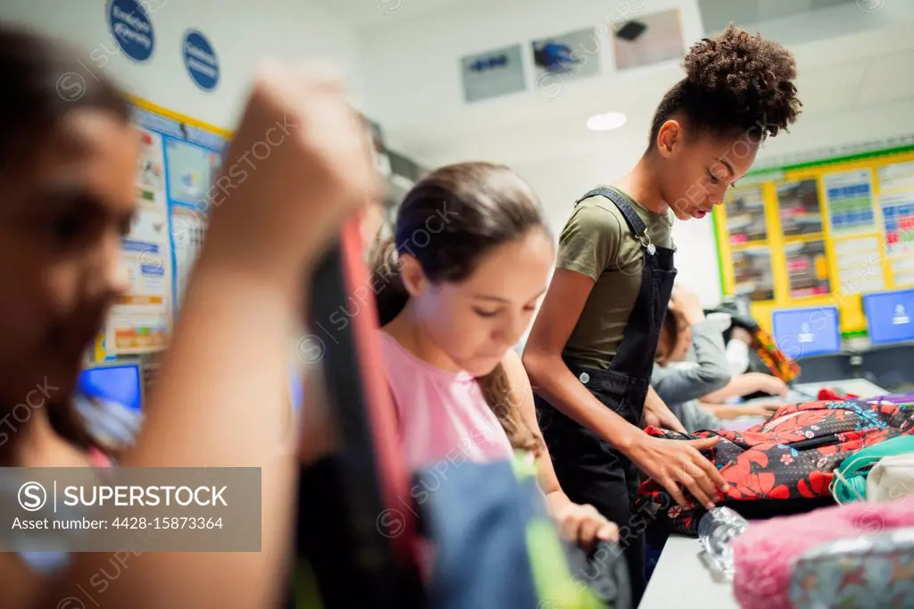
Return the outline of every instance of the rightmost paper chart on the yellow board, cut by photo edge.
[[[880,167],[879,206],[896,287],[914,285],[914,163]]]

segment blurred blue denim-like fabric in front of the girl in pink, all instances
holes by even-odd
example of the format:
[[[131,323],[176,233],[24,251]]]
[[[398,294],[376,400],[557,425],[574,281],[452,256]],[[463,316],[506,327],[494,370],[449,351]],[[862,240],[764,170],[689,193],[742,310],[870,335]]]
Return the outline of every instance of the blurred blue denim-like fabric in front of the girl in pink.
[[[536,479],[518,481],[507,461],[440,470],[418,474],[413,494],[435,545],[429,606],[537,609],[527,524],[548,515]]]

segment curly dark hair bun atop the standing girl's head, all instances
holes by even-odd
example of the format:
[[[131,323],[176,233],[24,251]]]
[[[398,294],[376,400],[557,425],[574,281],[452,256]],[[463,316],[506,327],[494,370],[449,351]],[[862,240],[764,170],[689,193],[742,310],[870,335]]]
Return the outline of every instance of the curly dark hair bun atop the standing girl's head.
[[[796,60],[780,43],[730,24],[718,37],[705,38],[683,61],[685,86],[716,98],[738,123],[756,123],[774,136],[800,113]],[[717,105],[716,104],[716,105]]]

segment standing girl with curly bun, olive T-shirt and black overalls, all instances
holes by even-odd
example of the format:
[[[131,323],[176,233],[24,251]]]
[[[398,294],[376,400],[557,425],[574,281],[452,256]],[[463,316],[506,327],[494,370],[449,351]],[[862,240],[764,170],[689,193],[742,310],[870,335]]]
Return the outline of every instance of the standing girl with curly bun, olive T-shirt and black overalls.
[[[576,203],[524,353],[558,480],[573,501],[620,525],[636,602],[643,536],[624,531],[639,470],[681,504],[689,492],[712,506],[726,490],[699,452],[713,440],[669,441],[639,429],[644,421],[682,430],[650,389],[675,277],[672,216],[707,216],[760,142],[791,124],[801,105],[791,53],[737,27],[696,43],[684,64],[638,164]]]

